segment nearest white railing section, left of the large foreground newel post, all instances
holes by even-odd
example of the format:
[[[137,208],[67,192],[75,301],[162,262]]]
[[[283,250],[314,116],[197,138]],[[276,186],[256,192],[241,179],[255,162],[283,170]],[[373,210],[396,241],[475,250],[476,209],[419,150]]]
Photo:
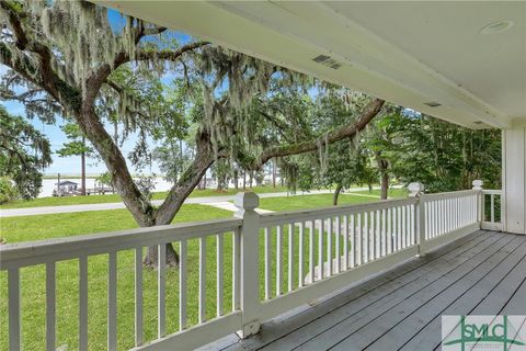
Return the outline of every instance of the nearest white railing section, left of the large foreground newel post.
[[[0,248],[0,269],[8,271],[9,296],[9,349],[21,349],[21,286],[20,271],[26,267],[46,267],[46,349],[56,350],[56,265],[59,261],[76,260],[78,262],[79,295],[78,342],[79,350],[88,350],[88,298],[90,265],[88,259],[99,256],[107,257],[107,349],[117,347],[117,253],[132,253],[135,271],[135,344],[140,349],[145,344],[144,326],[144,269],[142,254],[147,247],[158,246],[160,257],[165,257],[165,244],[172,242],[180,256],[179,264],[179,332],[167,337],[167,287],[165,260],[159,260],[157,268],[157,340],[148,343],[151,350],[165,350],[165,342],[174,343],[182,350],[194,348],[196,342],[211,342],[241,326],[240,312],[240,257],[241,225],[237,218],[210,220],[206,223],[188,223],[155,228],[140,228],[107,234],[50,239],[34,242],[5,245]],[[225,237],[231,237],[231,252],[225,250]],[[207,244],[216,245],[215,286],[207,279]],[[198,248],[197,325],[188,328],[188,246]],[[129,252],[132,251],[132,252]],[[226,284],[225,258],[231,262],[231,284]],[[226,291],[229,286],[230,292]],[[214,288],[216,316],[206,319],[206,293]],[[231,312],[224,308],[225,295],[232,296]],[[209,301],[208,301],[209,303]],[[171,305],[170,305],[171,306]],[[70,312],[75,315],[75,312]],[[198,341],[197,341],[198,340]]]

